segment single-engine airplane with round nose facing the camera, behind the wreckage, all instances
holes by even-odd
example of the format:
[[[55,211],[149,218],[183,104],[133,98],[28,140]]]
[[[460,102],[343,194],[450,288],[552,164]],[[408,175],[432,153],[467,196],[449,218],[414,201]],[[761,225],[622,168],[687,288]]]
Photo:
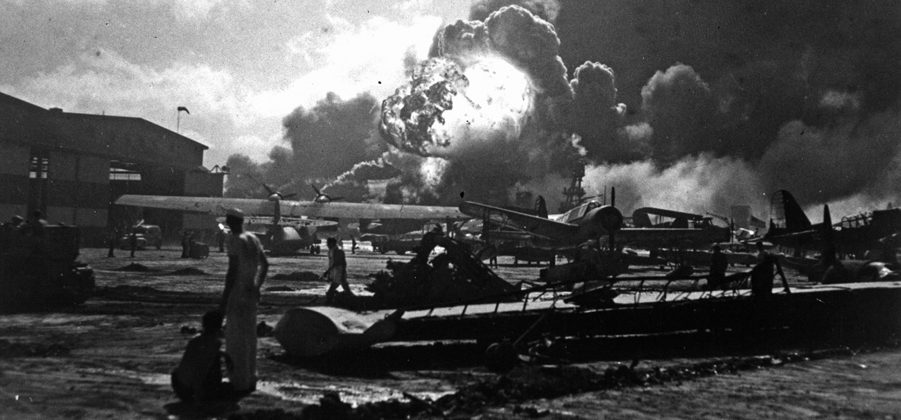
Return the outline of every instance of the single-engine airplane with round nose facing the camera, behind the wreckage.
[[[635,246],[661,247],[668,244],[681,246],[687,241],[711,243],[729,239],[728,229],[712,225],[685,228],[651,227],[649,222],[649,226],[645,227],[623,227],[623,214],[614,206],[615,194],[615,190],[611,189],[611,205],[601,205],[591,200],[562,215],[550,215],[546,218],[469,201],[460,205],[460,212],[482,219],[483,224],[503,226],[507,229],[487,230],[488,238],[492,238],[492,235],[498,239],[528,238],[532,246],[543,249],[560,250],[578,246],[588,240],[597,240],[602,236],[608,236],[611,247],[614,241]]]

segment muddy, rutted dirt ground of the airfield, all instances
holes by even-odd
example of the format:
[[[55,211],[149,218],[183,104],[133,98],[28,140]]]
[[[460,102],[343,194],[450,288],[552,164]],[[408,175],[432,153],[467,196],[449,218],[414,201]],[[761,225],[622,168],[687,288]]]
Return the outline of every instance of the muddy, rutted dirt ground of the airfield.
[[[0,315],[0,418],[205,416],[177,403],[168,374],[193,336],[189,329],[199,329],[200,315],[217,304],[226,259],[215,251],[206,260],[179,259],[179,254],[180,249],[164,248],[139,251],[132,259],[117,250],[111,259],[106,250],[83,250],[82,260],[96,271],[96,297],[80,306]],[[360,294],[365,294],[369,273],[384,269],[388,258],[410,258],[365,252],[349,252],[348,257],[350,283]],[[514,267],[504,258],[500,262],[496,272],[509,281],[538,277],[537,266]],[[123,270],[132,263],[147,270]],[[270,277],[298,271],[319,274],[326,264],[324,256],[308,255],[271,258],[270,263]],[[316,281],[269,279],[264,289],[280,291],[264,291],[259,321],[275,325],[289,307],[322,302],[325,287]],[[299,415],[327,393],[337,393],[350,406],[363,406],[392,399],[408,402],[405,395],[440,401],[474,384],[507,389],[511,379],[482,367],[474,348],[467,343],[396,345],[297,360],[274,338],[263,337],[258,391],[238,406],[222,407],[209,416],[262,418],[282,413],[273,411],[278,409]],[[602,349],[598,353],[596,361],[580,363],[579,371],[610,379],[611,366],[624,370],[622,366],[633,362],[605,357]],[[538,397],[528,397],[532,394],[521,387],[516,391],[520,397],[495,396],[494,403],[476,410],[441,411],[462,418],[901,418],[901,351],[896,347],[836,352],[808,361],[776,357],[745,363],[742,369],[715,364],[723,354],[680,357],[642,360],[639,366],[651,378],[660,377],[661,369],[688,365],[705,366],[707,373],[667,374],[665,381],[649,381],[646,374],[644,379],[614,381],[613,386],[609,380],[588,380],[581,389],[561,385],[556,388],[560,392],[535,394]],[[514,371],[510,378],[515,376]],[[431,416],[439,416],[438,411]]]

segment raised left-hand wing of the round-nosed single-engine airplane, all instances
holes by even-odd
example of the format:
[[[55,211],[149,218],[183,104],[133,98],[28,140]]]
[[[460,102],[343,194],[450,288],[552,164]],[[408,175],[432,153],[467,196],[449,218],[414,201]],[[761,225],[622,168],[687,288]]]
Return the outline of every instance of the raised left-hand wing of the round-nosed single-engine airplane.
[[[557,222],[535,215],[514,212],[493,205],[483,205],[466,201],[460,205],[460,212],[478,219],[487,219],[491,224],[529,233],[543,239],[560,239],[578,231],[578,225]]]

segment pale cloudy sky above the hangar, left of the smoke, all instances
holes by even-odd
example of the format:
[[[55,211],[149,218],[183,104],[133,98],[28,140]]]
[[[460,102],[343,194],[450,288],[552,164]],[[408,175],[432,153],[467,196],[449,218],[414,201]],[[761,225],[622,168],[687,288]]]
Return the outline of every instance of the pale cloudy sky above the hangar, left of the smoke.
[[[135,116],[265,160],[281,120],[329,91],[381,98],[469,0],[0,0],[0,92]]]

